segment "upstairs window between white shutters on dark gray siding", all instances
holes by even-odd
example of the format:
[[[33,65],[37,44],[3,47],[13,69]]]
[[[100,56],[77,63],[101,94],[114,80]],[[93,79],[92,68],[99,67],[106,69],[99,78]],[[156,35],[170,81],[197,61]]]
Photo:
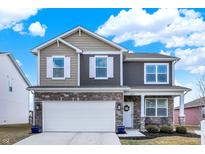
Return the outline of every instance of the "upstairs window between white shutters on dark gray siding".
[[[107,57],[96,57],[96,78],[107,78]]]

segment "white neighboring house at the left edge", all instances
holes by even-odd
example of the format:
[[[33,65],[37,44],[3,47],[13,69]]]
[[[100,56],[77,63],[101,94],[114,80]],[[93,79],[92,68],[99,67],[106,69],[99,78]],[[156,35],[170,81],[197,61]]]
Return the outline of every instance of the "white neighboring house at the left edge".
[[[28,79],[10,53],[0,52],[0,70],[0,125],[28,123]]]

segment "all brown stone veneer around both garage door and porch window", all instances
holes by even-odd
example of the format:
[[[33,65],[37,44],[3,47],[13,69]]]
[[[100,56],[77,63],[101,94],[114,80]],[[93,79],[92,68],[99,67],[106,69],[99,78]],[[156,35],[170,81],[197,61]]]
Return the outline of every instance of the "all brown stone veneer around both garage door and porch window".
[[[116,128],[123,125],[123,102],[134,102],[133,127],[143,129],[144,125],[173,125],[174,102],[172,96],[146,96],[145,98],[168,98],[168,117],[140,117],[141,97],[124,96],[122,92],[35,92],[35,125],[42,128],[43,101],[116,101]],[[69,103],[69,102],[68,102]],[[117,109],[117,106],[121,106]],[[37,108],[38,106],[38,108]]]

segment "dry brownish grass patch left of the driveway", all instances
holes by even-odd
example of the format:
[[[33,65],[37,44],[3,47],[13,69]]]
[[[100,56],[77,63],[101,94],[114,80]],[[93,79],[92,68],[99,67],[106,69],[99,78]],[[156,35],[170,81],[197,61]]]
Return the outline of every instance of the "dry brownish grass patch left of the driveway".
[[[31,126],[28,124],[0,126],[0,145],[14,144],[30,136],[30,132]]]

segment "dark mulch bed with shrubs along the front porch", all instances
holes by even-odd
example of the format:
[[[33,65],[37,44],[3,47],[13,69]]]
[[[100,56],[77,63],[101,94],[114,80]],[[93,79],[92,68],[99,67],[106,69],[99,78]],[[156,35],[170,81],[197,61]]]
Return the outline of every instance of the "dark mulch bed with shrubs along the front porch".
[[[171,134],[168,133],[148,133],[148,132],[141,132],[145,136],[141,137],[119,137],[120,139],[131,139],[131,140],[145,140],[145,139],[154,139],[157,137],[166,137],[166,136],[182,136],[182,137],[193,137],[193,138],[200,138],[200,135],[187,132],[186,134],[179,134],[173,132]]]

